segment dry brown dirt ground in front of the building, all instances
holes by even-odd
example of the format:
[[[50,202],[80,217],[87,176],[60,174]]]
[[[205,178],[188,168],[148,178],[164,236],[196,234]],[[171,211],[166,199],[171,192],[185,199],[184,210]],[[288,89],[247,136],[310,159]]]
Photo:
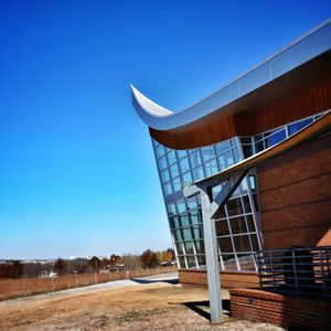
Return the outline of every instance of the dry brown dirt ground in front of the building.
[[[223,324],[211,325],[206,300],[204,288],[168,282],[36,296],[0,302],[0,330],[282,330],[226,314]]]

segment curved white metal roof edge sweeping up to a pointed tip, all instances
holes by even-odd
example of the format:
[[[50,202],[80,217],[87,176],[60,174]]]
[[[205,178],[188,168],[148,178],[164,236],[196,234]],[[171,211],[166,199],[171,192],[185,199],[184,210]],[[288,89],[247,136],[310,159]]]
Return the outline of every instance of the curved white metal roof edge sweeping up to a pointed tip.
[[[205,116],[222,111],[226,105],[289,73],[331,49],[331,19],[280,52],[244,73],[225,87],[195,105],[173,113],[159,106],[131,85],[132,103],[141,119],[156,130],[175,130]]]

